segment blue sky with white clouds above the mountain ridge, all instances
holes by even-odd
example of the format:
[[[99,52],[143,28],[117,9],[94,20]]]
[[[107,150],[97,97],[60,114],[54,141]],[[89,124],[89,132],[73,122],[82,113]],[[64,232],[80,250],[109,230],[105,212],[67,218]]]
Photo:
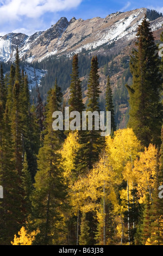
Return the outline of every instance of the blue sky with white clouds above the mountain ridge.
[[[86,20],[141,7],[163,13],[162,0],[0,0],[0,35],[10,32],[32,35],[45,31],[63,16],[68,21],[72,17]]]

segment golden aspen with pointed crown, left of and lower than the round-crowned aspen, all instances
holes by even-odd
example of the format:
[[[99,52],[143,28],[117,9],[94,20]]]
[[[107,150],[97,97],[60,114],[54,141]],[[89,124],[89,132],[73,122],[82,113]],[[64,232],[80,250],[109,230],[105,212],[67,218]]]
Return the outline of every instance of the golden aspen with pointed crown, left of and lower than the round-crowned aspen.
[[[106,237],[106,214],[110,215],[110,212],[106,212],[106,206],[112,204],[114,208],[112,211],[114,213],[117,211],[118,203],[114,187],[118,182],[116,172],[112,170],[106,154],[103,153],[99,162],[87,176],[88,187],[86,190],[87,198],[91,198],[96,210],[98,221],[96,240],[99,245],[108,243]]]

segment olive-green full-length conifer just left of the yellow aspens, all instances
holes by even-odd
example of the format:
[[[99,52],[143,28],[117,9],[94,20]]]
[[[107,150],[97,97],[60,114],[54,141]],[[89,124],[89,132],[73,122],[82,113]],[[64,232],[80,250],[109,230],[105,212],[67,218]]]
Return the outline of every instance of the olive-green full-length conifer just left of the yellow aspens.
[[[32,196],[34,227],[39,228],[36,244],[52,245],[57,237],[57,222],[60,220],[60,205],[65,190],[60,166],[60,139],[58,131],[52,129],[52,114],[58,110],[57,95],[50,90],[46,106],[46,129],[43,147],[37,156],[38,170],[35,175],[35,190]]]

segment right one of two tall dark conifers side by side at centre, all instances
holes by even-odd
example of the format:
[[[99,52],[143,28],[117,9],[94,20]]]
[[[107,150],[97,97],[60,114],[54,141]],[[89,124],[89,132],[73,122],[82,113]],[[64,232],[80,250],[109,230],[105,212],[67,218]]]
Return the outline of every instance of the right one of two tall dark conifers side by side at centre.
[[[97,111],[99,113],[99,75],[98,75],[98,59],[92,57],[91,71],[87,84],[87,111]],[[82,138],[82,149],[80,149],[80,157],[82,169],[86,171],[91,169],[93,163],[98,161],[99,153],[104,145],[103,137],[99,130],[95,130],[95,116],[92,118],[92,130],[86,131]]]

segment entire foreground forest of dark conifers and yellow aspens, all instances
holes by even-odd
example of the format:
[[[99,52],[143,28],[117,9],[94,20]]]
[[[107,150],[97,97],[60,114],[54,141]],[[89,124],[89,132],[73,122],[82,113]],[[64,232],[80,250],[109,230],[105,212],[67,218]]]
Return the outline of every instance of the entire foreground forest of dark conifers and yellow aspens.
[[[163,245],[162,63],[145,17],[130,58],[133,81],[122,89],[130,96],[126,129],[116,130],[114,103],[120,96],[113,97],[107,77],[109,136],[96,129],[95,116],[91,130],[82,130],[73,116],[68,125],[74,129],[53,130],[55,111],[67,125],[58,77],[46,106],[38,86],[31,104],[18,51],[9,76],[1,65],[0,245]],[[74,54],[70,111],[99,114],[98,57],[91,58],[86,104],[79,67]]]

